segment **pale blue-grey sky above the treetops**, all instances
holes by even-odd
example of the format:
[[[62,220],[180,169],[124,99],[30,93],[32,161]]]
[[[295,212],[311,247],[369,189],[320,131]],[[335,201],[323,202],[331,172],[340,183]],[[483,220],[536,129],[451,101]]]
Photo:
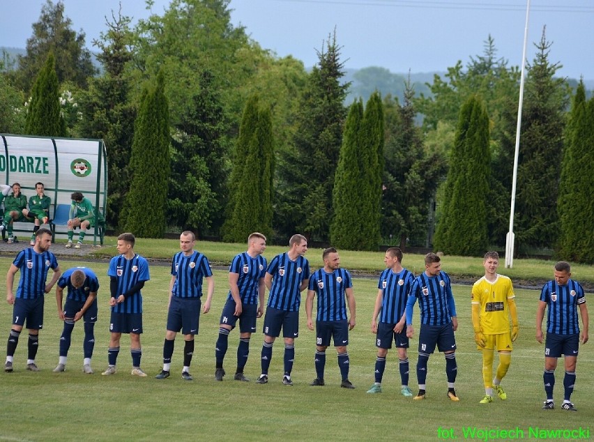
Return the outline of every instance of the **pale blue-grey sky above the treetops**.
[[[0,46],[24,48],[45,0],[0,0]],[[105,15],[119,0],[63,0],[73,29],[87,45],[105,29]],[[144,0],[121,0],[122,12],[147,17]],[[169,0],[155,0],[162,15]],[[231,0],[232,21],[278,56],[293,55],[306,67],[317,61],[336,29],[347,68],[381,66],[393,73],[445,71],[481,55],[491,34],[497,55],[520,66],[526,0]],[[552,43],[549,61],[558,75],[594,79],[594,0],[531,0],[528,61],[542,36]]]

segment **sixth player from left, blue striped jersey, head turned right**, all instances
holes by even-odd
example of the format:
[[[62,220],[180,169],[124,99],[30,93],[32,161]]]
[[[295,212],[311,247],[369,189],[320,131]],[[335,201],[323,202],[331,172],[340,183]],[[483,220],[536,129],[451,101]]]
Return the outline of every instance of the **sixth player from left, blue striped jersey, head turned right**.
[[[257,383],[268,382],[275,339],[284,337],[284,376],[282,383],[292,386],[291,370],[295,359],[295,338],[299,336],[299,305],[301,292],[310,280],[310,264],[303,255],[307,252],[307,239],[295,234],[289,239],[289,252],[277,255],[266,270],[264,282],[268,287],[268,306],[264,317],[264,344],[262,345],[262,374]]]

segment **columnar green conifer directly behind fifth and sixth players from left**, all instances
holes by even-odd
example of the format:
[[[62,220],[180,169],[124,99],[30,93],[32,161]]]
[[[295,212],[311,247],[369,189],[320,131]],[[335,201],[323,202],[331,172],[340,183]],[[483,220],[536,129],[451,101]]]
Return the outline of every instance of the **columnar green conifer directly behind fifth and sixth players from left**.
[[[239,128],[224,241],[244,242],[253,231],[272,234],[273,170],[271,112],[260,109],[258,96],[252,96],[245,104]]]

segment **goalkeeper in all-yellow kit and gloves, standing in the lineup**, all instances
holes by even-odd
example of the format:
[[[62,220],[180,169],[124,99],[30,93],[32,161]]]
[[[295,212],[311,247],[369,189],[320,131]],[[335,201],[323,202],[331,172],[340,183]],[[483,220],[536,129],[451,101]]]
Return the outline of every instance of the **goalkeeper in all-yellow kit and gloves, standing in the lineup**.
[[[514,287],[510,278],[497,273],[498,265],[499,254],[487,252],[482,261],[485,276],[474,283],[471,291],[474,339],[477,349],[482,352],[482,381],[485,384],[485,397],[480,400],[480,404],[493,402],[494,392],[499,399],[508,399],[500,384],[510,367],[512,342],[519,333]],[[499,365],[492,378],[495,350],[499,353]]]

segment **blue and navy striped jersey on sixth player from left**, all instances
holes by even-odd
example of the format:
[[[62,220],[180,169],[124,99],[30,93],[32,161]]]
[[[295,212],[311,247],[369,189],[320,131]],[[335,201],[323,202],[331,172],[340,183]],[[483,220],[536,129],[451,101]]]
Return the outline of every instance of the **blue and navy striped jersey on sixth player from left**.
[[[285,252],[275,256],[266,271],[273,277],[268,307],[297,312],[301,303],[299,286],[303,280],[310,279],[310,264],[307,259],[298,256],[295,261],[291,261]]]

